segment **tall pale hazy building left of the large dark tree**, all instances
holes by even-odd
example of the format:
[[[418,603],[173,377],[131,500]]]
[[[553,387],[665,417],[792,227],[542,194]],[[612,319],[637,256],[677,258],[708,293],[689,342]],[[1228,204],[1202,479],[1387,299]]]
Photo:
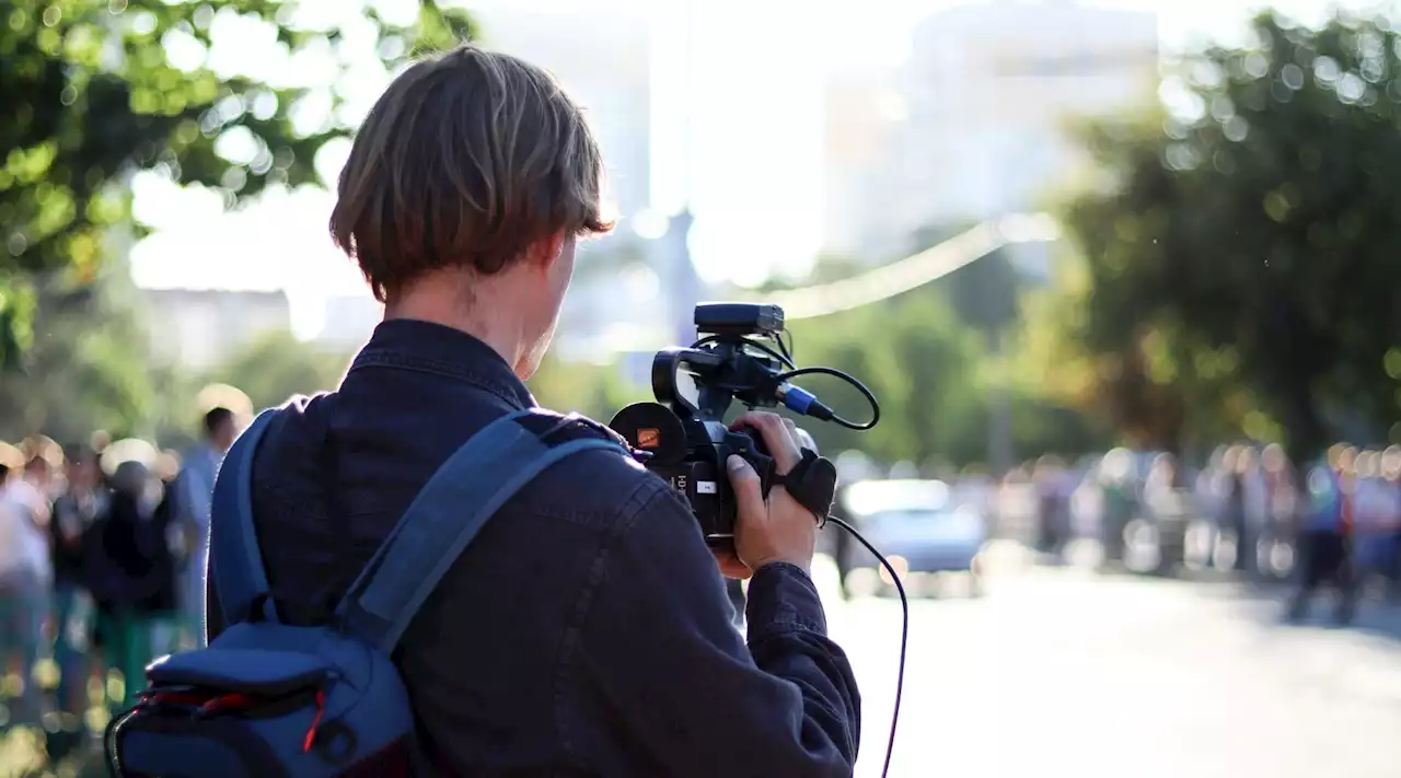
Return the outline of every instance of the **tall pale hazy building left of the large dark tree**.
[[[894,77],[906,116],[890,130],[862,200],[862,254],[890,258],[911,236],[1038,210],[1086,163],[1069,136],[1075,118],[1153,100],[1157,15],[1073,1],[993,1],[950,8],[913,29]],[[834,202],[843,202],[834,196]]]

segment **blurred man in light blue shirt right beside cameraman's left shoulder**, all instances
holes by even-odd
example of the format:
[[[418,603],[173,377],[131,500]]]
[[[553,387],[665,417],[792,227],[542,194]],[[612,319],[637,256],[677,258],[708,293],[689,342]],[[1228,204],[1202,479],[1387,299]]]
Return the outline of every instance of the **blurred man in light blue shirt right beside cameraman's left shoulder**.
[[[184,641],[200,643],[205,635],[205,566],[209,558],[209,512],[214,477],[224,454],[238,437],[238,418],[228,408],[205,414],[205,440],[182,458],[177,478],[171,545],[182,558],[177,607]]]

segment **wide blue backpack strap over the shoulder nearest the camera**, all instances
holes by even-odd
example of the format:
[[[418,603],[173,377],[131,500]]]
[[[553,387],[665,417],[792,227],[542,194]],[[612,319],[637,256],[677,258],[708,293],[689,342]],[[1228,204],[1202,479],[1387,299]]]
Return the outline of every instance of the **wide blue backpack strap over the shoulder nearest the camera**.
[[[552,423],[541,425],[542,421]],[[336,608],[342,624],[381,652],[392,653],[453,562],[521,486],[580,451],[628,451],[604,436],[556,444],[545,440],[573,421],[528,409],[507,414],[474,435],[413,498],[394,531],[350,585]]]

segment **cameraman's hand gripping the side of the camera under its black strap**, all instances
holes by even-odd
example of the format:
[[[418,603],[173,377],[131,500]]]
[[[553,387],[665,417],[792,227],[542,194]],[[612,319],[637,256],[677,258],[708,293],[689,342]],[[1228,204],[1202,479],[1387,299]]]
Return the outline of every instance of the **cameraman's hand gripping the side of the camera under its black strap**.
[[[778,414],[744,414],[730,429],[748,426],[759,430],[764,446],[773,457],[778,472],[786,474],[803,458],[797,426]],[[813,565],[817,547],[817,517],[803,507],[787,489],[775,485],[765,500],[759,475],[741,457],[726,463],[737,505],[734,519],[734,554],[717,554],[720,572],[729,578],[748,578],[769,562],[789,562],[804,571]]]

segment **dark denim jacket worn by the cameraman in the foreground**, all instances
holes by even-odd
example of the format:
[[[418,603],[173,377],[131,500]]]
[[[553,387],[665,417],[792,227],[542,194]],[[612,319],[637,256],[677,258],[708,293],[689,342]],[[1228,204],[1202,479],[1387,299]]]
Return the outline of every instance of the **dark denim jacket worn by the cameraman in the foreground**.
[[[481,341],[381,324],[340,388],[293,402],[259,450],[279,613],[325,621],[448,454],[530,405]],[[630,458],[588,451],[492,519],[395,659],[448,775],[850,775],[860,699],[807,573],[755,573],[748,645],[730,614],[685,503]]]

